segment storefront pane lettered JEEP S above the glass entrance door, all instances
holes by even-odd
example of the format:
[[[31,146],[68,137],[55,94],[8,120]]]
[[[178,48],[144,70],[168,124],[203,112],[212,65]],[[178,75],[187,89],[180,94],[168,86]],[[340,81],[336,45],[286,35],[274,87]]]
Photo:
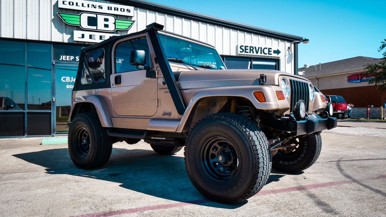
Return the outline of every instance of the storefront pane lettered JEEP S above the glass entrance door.
[[[79,62],[81,48],[82,46],[54,44],[54,61]]]

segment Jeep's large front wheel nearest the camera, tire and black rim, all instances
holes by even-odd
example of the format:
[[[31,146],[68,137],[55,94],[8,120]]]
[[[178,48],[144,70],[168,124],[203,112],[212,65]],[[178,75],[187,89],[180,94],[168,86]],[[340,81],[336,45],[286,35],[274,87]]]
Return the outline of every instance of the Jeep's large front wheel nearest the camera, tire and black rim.
[[[235,204],[255,195],[271,172],[264,133],[234,113],[211,114],[186,140],[185,166],[195,188],[210,200]]]

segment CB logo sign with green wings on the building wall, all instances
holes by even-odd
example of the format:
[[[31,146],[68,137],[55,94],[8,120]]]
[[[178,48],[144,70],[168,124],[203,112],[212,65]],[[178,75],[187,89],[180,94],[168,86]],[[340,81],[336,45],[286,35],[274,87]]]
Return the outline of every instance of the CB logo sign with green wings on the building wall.
[[[86,30],[115,32],[115,30],[128,30],[134,20],[116,19],[113,15],[82,12],[80,14],[57,12],[64,23],[80,26]]]

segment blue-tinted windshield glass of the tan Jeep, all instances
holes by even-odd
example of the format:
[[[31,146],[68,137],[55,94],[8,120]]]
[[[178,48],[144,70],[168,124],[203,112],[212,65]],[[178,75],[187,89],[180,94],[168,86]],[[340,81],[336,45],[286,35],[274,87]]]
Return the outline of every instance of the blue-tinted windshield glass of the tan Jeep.
[[[182,65],[188,63],[186,65],[202,69],[225,69],[220,55],[212,47],[169,35],[160,35],[160,39],[169,62]]]

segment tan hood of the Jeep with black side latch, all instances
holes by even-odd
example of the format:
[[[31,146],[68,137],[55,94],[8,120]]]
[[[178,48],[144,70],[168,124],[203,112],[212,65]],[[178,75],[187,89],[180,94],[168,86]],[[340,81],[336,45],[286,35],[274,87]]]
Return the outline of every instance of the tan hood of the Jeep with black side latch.
[[[263,69],[218,69],[198,70],[175,73],[180,89],[195,89],[208,87],[232,87],[259,85],[259,76],[267,77],[266,85],[279,85],[279,76],[290,76],[295,79],[307,79],[276,70]]]

